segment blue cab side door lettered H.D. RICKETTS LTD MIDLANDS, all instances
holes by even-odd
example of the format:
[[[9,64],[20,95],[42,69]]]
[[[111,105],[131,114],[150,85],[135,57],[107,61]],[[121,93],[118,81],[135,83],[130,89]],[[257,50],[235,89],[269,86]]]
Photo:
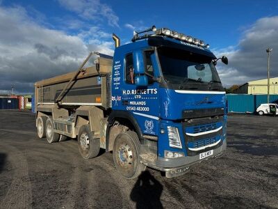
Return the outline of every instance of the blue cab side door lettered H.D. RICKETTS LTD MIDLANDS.
[[[125,86],[122,104],[138,121],[143,134],[158,134],[159,99],[154,50],[138,50],[126,55]],[[142,86],[136,83],[140,76],[147,77]]]

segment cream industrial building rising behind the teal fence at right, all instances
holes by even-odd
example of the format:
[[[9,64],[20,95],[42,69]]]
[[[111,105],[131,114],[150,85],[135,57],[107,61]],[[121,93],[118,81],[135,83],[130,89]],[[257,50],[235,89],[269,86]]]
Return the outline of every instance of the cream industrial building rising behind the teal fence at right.
[[[247,82],[235,89],[233,93],[268,94],[268,79]],[[270,78],[270,94],[278,94],[278,77]]]

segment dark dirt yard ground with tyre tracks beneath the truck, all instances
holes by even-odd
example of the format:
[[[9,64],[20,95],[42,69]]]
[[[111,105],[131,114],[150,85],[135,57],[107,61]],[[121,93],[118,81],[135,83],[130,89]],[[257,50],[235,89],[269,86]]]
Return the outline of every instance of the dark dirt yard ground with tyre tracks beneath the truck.
[[[126,180],[111,153],[38,139],[35,116],[0,111],[0,208],[278,208],[278,118],[231,115],[227,152],[177,178]]]

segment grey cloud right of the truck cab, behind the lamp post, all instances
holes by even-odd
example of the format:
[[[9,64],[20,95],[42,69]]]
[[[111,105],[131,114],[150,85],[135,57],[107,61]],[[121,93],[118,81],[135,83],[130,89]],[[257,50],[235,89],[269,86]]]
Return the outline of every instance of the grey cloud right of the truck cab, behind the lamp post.
[[[243,38],[236,47],[216,51],[227,54],[229,65],[218,66],[222,83],[227,86],[243,84],[255,79],[267,77],[267,53],[265,49],[273,48],[270,54],[270,75],[278,76],[278,16],[264,17],[257,20],[250,29],[243,33]]]

